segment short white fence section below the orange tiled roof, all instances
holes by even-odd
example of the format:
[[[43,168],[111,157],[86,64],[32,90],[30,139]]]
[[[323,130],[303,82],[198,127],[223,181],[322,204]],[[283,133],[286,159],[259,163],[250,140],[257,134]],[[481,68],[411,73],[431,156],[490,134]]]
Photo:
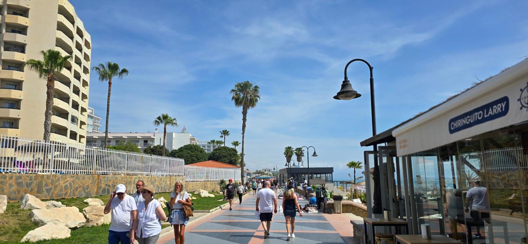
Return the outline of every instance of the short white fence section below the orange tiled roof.
[[[240,168],[210,168],[185,165],[185,181],[240,181]]]

